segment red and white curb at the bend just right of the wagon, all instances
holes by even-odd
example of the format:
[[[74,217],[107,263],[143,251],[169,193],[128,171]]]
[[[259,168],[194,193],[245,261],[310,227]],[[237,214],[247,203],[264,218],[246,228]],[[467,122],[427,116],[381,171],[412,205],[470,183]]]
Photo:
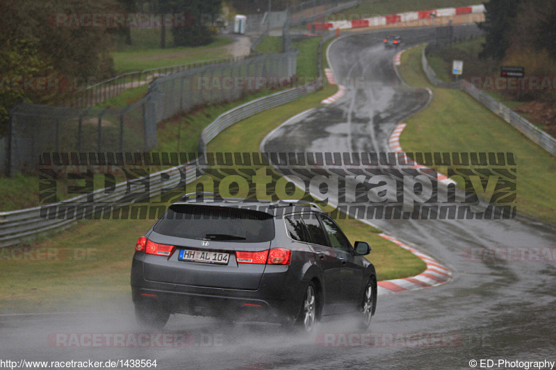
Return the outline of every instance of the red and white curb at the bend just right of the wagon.
[[[446,283],[448,280],[450,280],[450,278],[452,278],[452,272],[429,255],[426,255],[425,253],[411,248],[411,246],[400,242],[394,237],[390,237],[384,234],[380,234],[379,236],[384,237],[384,239],[388,239],[394,244],[398,244],[398,246],[401,246],[403,249],[407,249],[407,251],[410,251],[418,258],[420,258],[420,260],[425,262],[425,264],[427,264],[427,269],[417,276],[413,276],[411,278],[379,281],[377,283],[377,294],[379,296],[384,294],[407,292],[408,290],[414,289],[430,288]]]

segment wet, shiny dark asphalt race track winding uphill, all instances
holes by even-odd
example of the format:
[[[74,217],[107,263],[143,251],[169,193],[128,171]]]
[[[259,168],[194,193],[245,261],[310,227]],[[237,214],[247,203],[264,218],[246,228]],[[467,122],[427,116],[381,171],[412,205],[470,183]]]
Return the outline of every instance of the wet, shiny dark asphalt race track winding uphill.
[[[457,28],[457,32],[465,32]],[[400,31],[405,45],[429,30]],[[336,78],[348,87],[332,106],[275,131],[265,151],[386,151],[394,125],[427,103],[425,91],[402,85],[392,67],[395,50],[382,35],[354,35],[332,44]],[[350,81],[365,81],[355,89]],[[354,83],[355,85],[358,82]],[[345,149],[344,149],[345,148]],[[277,326],[172,317],[165,333],[190,333],[188,348],[63,348],[53,333],[139,333],[131,297],[102,302],[102,314],[6,319],[0,317],[0,359],[156,359],[156,369],[469,369],[469,360],[556,360],[555,262],[473,262],[469,246],[556,246],[553,228],[511,221],[398,220],[374,222],[448,265],[454,278],[431,289],[380,296],[371,333],[375,346],[327,348]],[[379,267],[377,267],[379,269]],[[323,323],[320,333],[355,332],[350,319]],[[441,333],[447,341],[404,342],[392,335]],[[317,334],[318,335],[318,334]],[[407,336],[406,336],[407,338]],[[214,344],[216,341],[216,345]],[[495,367],[496,368],[496,367]]]

